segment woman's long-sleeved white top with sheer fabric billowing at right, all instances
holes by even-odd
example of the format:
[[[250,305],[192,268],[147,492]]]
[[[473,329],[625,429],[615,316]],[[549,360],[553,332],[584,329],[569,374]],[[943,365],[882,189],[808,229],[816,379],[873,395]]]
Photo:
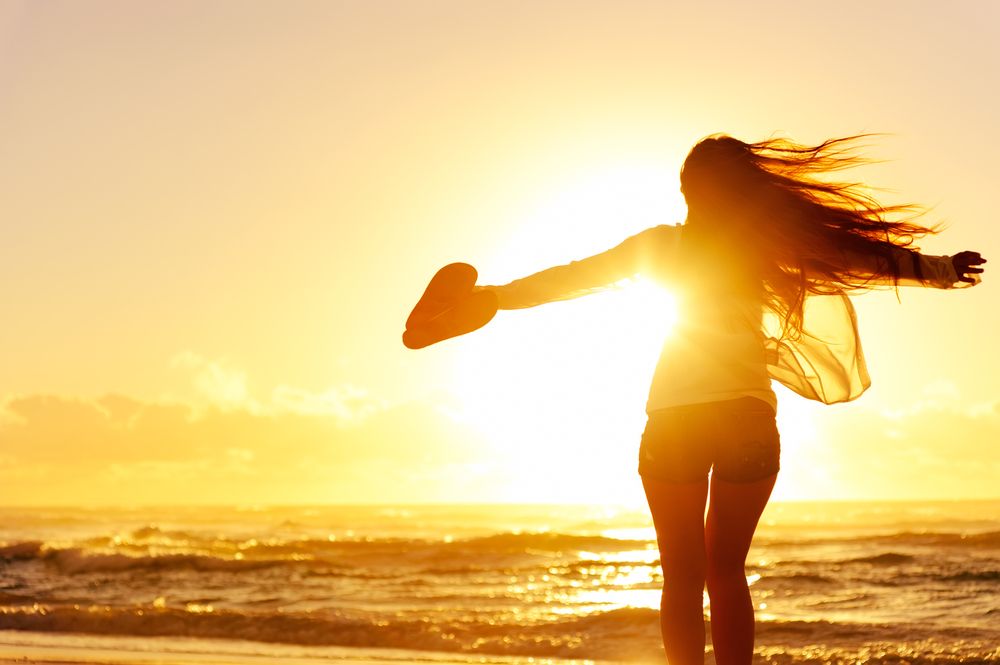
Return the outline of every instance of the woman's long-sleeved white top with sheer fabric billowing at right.
[[[684,226],[654,226],[606,252],[556,266],[503,286],[483,286],[497,294],[500,309],[522,309],[568,300],[613,286],[634,276],[662,281],[677,294],[679,317],[664,342],[653,374],[646,412],[683,404],[756,397],[777,408],[775,379],[804,397],[832,404],[857,398],[871,379],[858,339],[857,319],[847,295],[807,294],[803,334],[783,339],[777,316],[763,304],[729,298],[706,303],[676,281]],[[875,257],[846,257],[852,269],[871,274]],[[900,249],[900,285],[936,288],[970,286],[960,282],[950,257]],[[891,285],[891,278],[870,284]]]

